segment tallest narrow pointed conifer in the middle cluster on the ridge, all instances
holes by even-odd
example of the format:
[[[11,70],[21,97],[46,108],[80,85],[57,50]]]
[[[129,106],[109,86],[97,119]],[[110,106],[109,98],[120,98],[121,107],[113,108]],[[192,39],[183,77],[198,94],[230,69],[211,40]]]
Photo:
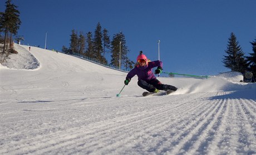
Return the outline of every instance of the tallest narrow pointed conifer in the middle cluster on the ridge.
[[[97,27],[96,27],[95,32],[94,32],[93,49],[95,51],[95,58],[99,62],[103,62],[103,58],[102,58],[102,55],[101,55],[102,52],[103,52],[103,48],[102,48],[102,32],[101,32],[100,23],[97,24]]]

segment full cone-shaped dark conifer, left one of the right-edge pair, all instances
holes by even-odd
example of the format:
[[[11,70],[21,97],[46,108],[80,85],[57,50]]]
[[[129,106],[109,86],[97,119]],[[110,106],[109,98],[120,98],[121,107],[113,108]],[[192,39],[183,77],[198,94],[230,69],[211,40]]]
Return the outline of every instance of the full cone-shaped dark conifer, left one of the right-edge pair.
[[[232,32],[228,41],[227,50],[225,53],[228,55],[224,55],[223,63],[224,66],[231,69],[232,71],[238,71],[242,74],[247,70],[247,62],[244,59],[244,53],[240,45],[238,45],[237,38],[235,34]]]

